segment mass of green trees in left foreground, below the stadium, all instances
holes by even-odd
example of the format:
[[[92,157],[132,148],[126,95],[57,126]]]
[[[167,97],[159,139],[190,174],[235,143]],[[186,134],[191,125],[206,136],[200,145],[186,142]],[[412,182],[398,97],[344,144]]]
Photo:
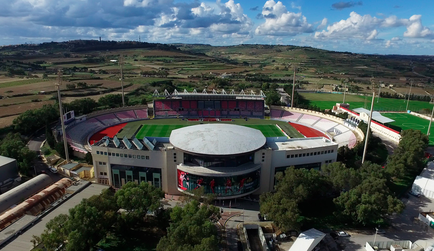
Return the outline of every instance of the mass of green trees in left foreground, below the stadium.
[[[110,235],[140,231],[155,218],[158,228],[167,231],[158,242],[157,251],[218,250],[214,224],[220,219],[217,207],[192,200],[184,207],[164,209],[160,202],[163,197],[160,188],[145,182],[129,182],[114,194],[105,189],[99,195],[83,199],[68,214],[51,219],[41,235],[33,236],[32,242],[35,247],[44,244],[47,251],[95,250],[104,246]]]

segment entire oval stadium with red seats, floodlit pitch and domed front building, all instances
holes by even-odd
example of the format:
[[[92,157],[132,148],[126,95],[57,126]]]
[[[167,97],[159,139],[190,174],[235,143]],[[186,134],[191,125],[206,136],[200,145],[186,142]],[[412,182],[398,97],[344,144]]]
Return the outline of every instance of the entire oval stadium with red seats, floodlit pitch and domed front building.
[[[316,111],[264,104],[241,91],[154,93],[148,106],[65,114],[74,155],[91,152],[98,183],[148,182],[168,195],[204,187],[217,199],[273,191],[288,166],[320,169],[364,135]],[[56,132],[61,134],[61,129]]]

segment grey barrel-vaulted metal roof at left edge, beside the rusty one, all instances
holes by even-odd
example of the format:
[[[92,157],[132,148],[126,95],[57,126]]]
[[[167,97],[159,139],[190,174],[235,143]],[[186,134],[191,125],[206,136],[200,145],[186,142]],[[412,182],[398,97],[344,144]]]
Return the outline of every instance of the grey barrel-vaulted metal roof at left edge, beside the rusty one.
[[[25,199],[36,194],[53,183],[53,179],[46,174],[40,174],[33,179],[26,181],[20,186],[0,195],[0,213],[9,209],[12,205],[23,202]]]

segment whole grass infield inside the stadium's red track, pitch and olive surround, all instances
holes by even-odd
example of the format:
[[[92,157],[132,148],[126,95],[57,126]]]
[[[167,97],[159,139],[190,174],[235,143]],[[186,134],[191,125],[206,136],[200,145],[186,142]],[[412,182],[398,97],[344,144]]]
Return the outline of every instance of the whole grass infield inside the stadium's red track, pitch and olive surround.
[[[200,124],[201,121],[186,121],[182,119],[152,119],[152,120],[143,120],[143,121],[133,121],[128,123],[122,131],[120,131],[116,137],[122,138],[126,136],[127,138],[131,138],[133,134],[137,131],[141,124],[143,126],[138,131],[136,137],[141,139],[145,136],[153,136],[153,137],[169,137],[171,130],[189,126]],[[290,124],[283,121],[274,121],[274,120],[265,120],[265,119],[249,119],[245,121],[243,119],[233,119],[233,121],[220,121],[220,122],[207,122],[204,123],[226,123],[226,124],[239,124],[251,128],[255,128],[260,130],[265,137],[283,137],[284,134],[276,127],[276,124],[279,125],[282,130],[285,131],[286,134],[291,138],[302,138],[304,137],[300,134],[294,127]],[[151,126],[155,125],[155,126]],[[164,136],[163,136],[164,135]]]

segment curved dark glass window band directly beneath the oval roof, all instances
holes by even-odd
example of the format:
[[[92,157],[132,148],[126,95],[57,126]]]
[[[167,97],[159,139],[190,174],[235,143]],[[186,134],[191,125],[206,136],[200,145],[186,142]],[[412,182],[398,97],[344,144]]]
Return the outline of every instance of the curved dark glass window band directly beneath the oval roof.
[[[236,167],[253,162],[254,153],[228,157],[197,156],[184,153],[184,163],[192,163],[203,167]]]

